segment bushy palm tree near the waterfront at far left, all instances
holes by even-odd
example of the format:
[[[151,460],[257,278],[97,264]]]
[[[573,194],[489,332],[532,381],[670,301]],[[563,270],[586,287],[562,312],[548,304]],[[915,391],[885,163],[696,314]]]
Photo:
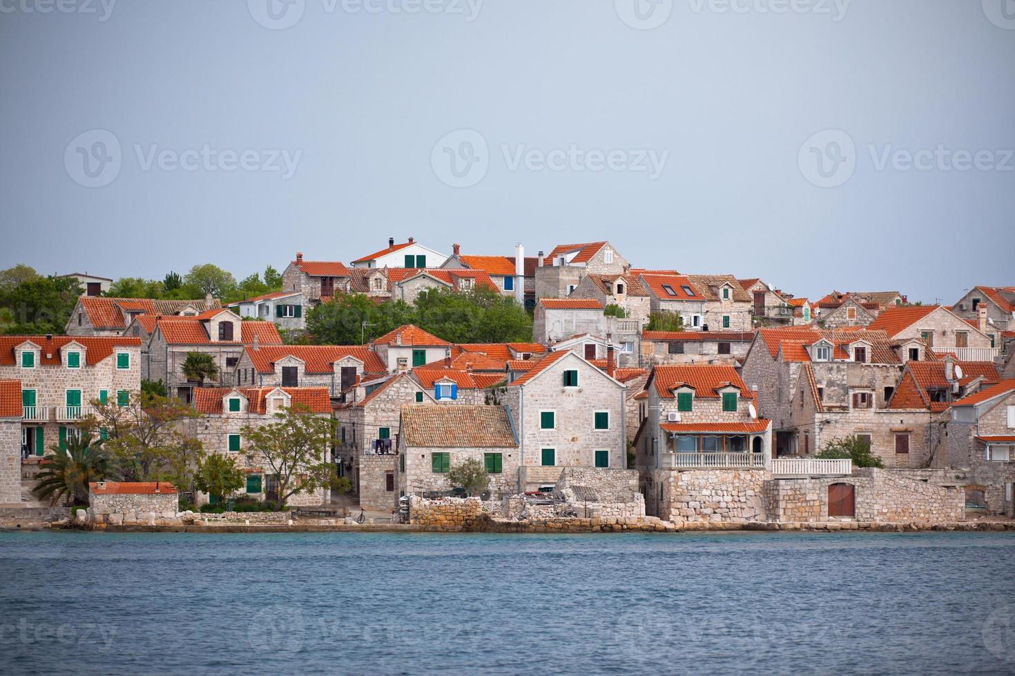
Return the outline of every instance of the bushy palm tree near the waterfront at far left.
[[[68,437],[64,447],[54,446],[55,455],[47,458],[36,474],[39,483],[31,490],[39,500],[69,500],[72,505],[88,504],[88,483],[106,476],[106,453],[101,440],[91,443],[91,435],[81,432]]]

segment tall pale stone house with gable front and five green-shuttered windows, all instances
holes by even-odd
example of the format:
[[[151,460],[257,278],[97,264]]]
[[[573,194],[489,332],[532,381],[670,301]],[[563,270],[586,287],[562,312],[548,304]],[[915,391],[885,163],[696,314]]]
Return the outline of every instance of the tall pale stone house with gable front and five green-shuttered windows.
[[[524,491],[563,467],[626,468],[626,386],[573,352],[549,353],[503,388],[521,443]]]

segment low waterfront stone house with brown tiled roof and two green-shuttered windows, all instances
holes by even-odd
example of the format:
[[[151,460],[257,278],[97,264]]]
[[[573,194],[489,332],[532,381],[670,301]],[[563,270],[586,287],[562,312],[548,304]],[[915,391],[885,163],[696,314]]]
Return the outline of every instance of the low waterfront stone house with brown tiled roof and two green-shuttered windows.
[[[398,496],[451,491],[456,486],[448,481],[448,472],[468,459],[486,468],[491,499],[519,492],[522,453],[503,406],[408,404],[402,407],[401,429]]]

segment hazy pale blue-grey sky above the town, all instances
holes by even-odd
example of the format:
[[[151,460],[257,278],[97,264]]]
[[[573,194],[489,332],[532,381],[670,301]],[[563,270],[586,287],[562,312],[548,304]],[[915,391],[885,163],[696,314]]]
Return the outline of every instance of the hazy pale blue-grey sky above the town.
[[[1015,0],[0,0],[0,268],[1015,284]]]

